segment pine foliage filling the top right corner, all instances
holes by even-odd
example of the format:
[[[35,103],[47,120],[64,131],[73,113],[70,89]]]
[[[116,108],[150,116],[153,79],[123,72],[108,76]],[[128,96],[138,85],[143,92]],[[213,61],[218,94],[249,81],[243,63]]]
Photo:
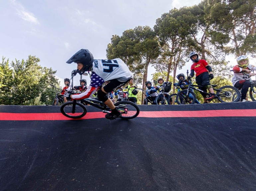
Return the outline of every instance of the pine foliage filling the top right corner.
[[[230,42],[224,47],[236,56],[256,53],[256,1],[205,0],[204,17],[215,32],[216,41]]]

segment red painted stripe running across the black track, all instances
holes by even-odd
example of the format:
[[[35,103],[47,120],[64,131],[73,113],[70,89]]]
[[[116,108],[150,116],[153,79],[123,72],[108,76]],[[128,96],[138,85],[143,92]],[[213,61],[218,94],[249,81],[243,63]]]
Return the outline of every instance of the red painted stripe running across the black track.
[[[88,112],[80,119],[104,118],[102,112]],[[141,118],[202,118],[202,117],[256,117],[256,109],[248,110],[203,110],[203,111],[141,111]],[[79,120],[70,119],[61,113],[0,113],[0,120]]]

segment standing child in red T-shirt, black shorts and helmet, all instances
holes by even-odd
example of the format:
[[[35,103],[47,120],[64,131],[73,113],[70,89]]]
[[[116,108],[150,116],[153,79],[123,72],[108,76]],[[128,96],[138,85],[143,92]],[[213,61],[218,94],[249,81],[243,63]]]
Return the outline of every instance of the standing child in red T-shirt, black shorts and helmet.
[[[212,69],[205,60],[199,60],[197,52],[191,52],[189,56],[193,64],[191,66],[191,72],[188,80],[191,80],[195,72],[195,82],[197,83],[197,85],[203,86],[202,88],[199,87],[199,89],[205,92],[208,89],[210,92],[210,96],[208,98],[206,97],[206,94],[200,92],[203,96],[204,103],[208,103],[208,100],[212,100],[218,97],[214,93],[213,88],[210,84],[210,79],[213,79],[214,77],[212,74]]]

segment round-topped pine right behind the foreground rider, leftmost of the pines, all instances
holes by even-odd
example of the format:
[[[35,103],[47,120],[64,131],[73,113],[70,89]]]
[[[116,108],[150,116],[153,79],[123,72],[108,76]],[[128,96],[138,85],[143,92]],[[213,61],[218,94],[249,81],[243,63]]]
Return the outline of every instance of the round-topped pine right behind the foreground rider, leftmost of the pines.
[[[125,30],[123,35],[113,35],[107,47],[107,58],[121,58],[136,76],[136,82],[143,73],[142,89],[147,80],[148,66],[153,64],[160,54],[159,42],[155,32],[149,26],[138,26]],[[143,102],[143,97],[141,98]]]

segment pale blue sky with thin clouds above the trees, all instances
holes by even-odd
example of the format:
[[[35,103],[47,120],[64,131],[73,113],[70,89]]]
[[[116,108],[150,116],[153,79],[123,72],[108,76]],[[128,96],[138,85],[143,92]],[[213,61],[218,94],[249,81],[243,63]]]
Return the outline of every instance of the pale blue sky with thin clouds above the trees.
[[[0,0],[0,56],[10,61],[40,58],[39,65],[56,70],[64,86],[76,64],[66,61],[88,49],[94,59],[106,59],[112,35],[121,36],[137,26],[154,27],[173,8],[193,6],[201,0]],[[177,73],[186,73],[187,63]],[[148,72],[152,79],[154,68]],[[89,83],[89,76],[83,76]],[[80,76],[75,76],[74,85]]]

